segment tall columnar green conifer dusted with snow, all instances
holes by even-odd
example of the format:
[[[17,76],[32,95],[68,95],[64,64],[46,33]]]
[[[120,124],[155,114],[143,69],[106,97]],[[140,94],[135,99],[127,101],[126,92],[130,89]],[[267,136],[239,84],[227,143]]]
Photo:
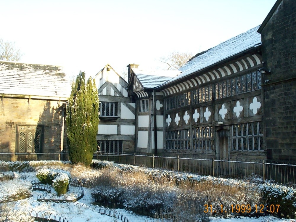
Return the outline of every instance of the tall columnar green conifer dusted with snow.
[[[97,147],[98,111],[99,97],[95,81],[89,78],[85,84],[85,73],[80,72],[67,105],[67,144],[72,163],[90,165]]]

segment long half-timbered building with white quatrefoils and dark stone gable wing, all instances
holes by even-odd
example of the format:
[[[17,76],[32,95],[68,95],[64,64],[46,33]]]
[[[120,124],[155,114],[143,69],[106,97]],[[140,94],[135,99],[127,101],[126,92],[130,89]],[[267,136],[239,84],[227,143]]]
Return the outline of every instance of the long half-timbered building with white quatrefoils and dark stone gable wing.
[[[129,65],[135,151],[295,161],[295,18],[293,1],[278,0],[262,25],[198,53],[179,73]]]

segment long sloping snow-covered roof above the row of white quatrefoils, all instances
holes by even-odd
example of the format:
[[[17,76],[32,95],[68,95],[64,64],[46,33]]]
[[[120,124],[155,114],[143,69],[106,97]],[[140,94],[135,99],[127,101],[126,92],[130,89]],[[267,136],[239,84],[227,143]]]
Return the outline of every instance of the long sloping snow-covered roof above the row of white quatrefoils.
[[[181,79],[192,73],[201,71],[247,49],[259,46],[261,44],[261,35],[257,33],[259,27],[260,25],[213,48],[196,54],[182,67],[179,68],[179,70],[182,72],[180,75],[166,82],[164,85],[172,81]]]

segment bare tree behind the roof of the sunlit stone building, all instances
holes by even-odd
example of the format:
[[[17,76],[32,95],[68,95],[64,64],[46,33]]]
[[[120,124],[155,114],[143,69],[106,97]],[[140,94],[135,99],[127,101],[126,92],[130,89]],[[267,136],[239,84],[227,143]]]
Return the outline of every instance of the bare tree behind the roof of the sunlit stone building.
[[[0,38],[0,60],[19,61],[22,57],[19,49],[15,48],[14,42],[4,42]]]

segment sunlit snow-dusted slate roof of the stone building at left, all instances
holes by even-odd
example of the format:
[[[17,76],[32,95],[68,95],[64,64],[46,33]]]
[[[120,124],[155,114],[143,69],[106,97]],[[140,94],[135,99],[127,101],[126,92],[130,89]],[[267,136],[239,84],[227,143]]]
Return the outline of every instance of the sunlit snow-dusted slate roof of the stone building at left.
[[[69,97],[70,83],[62,67],[0,60],[0,95]]]

